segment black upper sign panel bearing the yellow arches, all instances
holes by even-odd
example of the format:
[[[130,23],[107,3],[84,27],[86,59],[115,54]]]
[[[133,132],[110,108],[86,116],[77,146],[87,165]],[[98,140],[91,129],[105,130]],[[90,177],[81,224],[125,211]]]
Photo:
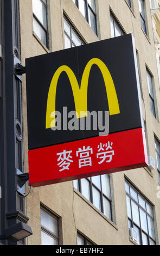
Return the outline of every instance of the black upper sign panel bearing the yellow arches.
[[[110,111],[109,133],[142,127],[136,63],[131,34],[26,59],[29,149],[99,136],[92,125],[52,130],[54,111],[66,125],[63,107]]]

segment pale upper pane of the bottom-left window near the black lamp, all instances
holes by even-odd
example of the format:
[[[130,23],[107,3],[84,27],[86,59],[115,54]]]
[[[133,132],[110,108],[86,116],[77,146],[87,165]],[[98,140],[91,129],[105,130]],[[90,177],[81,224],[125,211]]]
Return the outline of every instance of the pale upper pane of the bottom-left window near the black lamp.
[[[57,220],[50,214],[47,214],[46,211],[41,209],[41,224],[43,227],[47,228],[48,230],[52,231],[55,235],[58,236],[58,225]]]

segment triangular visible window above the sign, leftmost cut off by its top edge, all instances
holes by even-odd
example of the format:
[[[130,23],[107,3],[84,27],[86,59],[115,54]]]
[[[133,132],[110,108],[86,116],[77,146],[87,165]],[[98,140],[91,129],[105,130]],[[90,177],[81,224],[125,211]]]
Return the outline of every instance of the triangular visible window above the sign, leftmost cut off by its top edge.
[[[69,24],[69,22],[66,19],[64,19],[64,29],[66,49],[84,44],[84,42],[80,39],[78,34],[75,33],[73,27]]]

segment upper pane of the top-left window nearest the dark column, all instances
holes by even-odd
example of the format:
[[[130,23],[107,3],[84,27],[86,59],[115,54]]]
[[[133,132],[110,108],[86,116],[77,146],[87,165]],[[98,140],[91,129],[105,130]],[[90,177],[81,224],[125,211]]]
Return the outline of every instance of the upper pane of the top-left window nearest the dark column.
[[[40,0],[33,0],[33,13],[36,15],[37,19],[39,19],[42,25],[47,29],[46,7]]]

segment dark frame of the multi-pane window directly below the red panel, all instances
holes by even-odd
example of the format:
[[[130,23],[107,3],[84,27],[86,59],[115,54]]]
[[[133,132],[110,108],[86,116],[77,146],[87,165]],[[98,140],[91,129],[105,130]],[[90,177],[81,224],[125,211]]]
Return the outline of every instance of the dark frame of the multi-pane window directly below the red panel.
[[[107,174],[109,177],[110,175]],[[100,193],[100,206],[101,210],[99,210],[94,204],[94,206],[104,214],[104,205],[103,205],[103,197],[110,203],[110,214],[111,214],[111,221],[113,221],[113,214],[112,214],[112,199],[108,198],[104,193],[102,189],[102,181],[101,181],[101,175],[100,175],[100,189],[92,182],[92,177],[85,178],[89,182],[89,194],[90,194],[90,202],[93,204],[93,187]],[[74,185],[74,184],[73,184]],[[82,194],[82,185],[81,185],[81,179],[78,180],[78,191]],[[110,184],[110,192],[111,192],[111,184]],[[106,215],[105,215],[106,216]],[[107,216],[106,216],[107,217]],[[108,217],[107,217],[108,218]]]

